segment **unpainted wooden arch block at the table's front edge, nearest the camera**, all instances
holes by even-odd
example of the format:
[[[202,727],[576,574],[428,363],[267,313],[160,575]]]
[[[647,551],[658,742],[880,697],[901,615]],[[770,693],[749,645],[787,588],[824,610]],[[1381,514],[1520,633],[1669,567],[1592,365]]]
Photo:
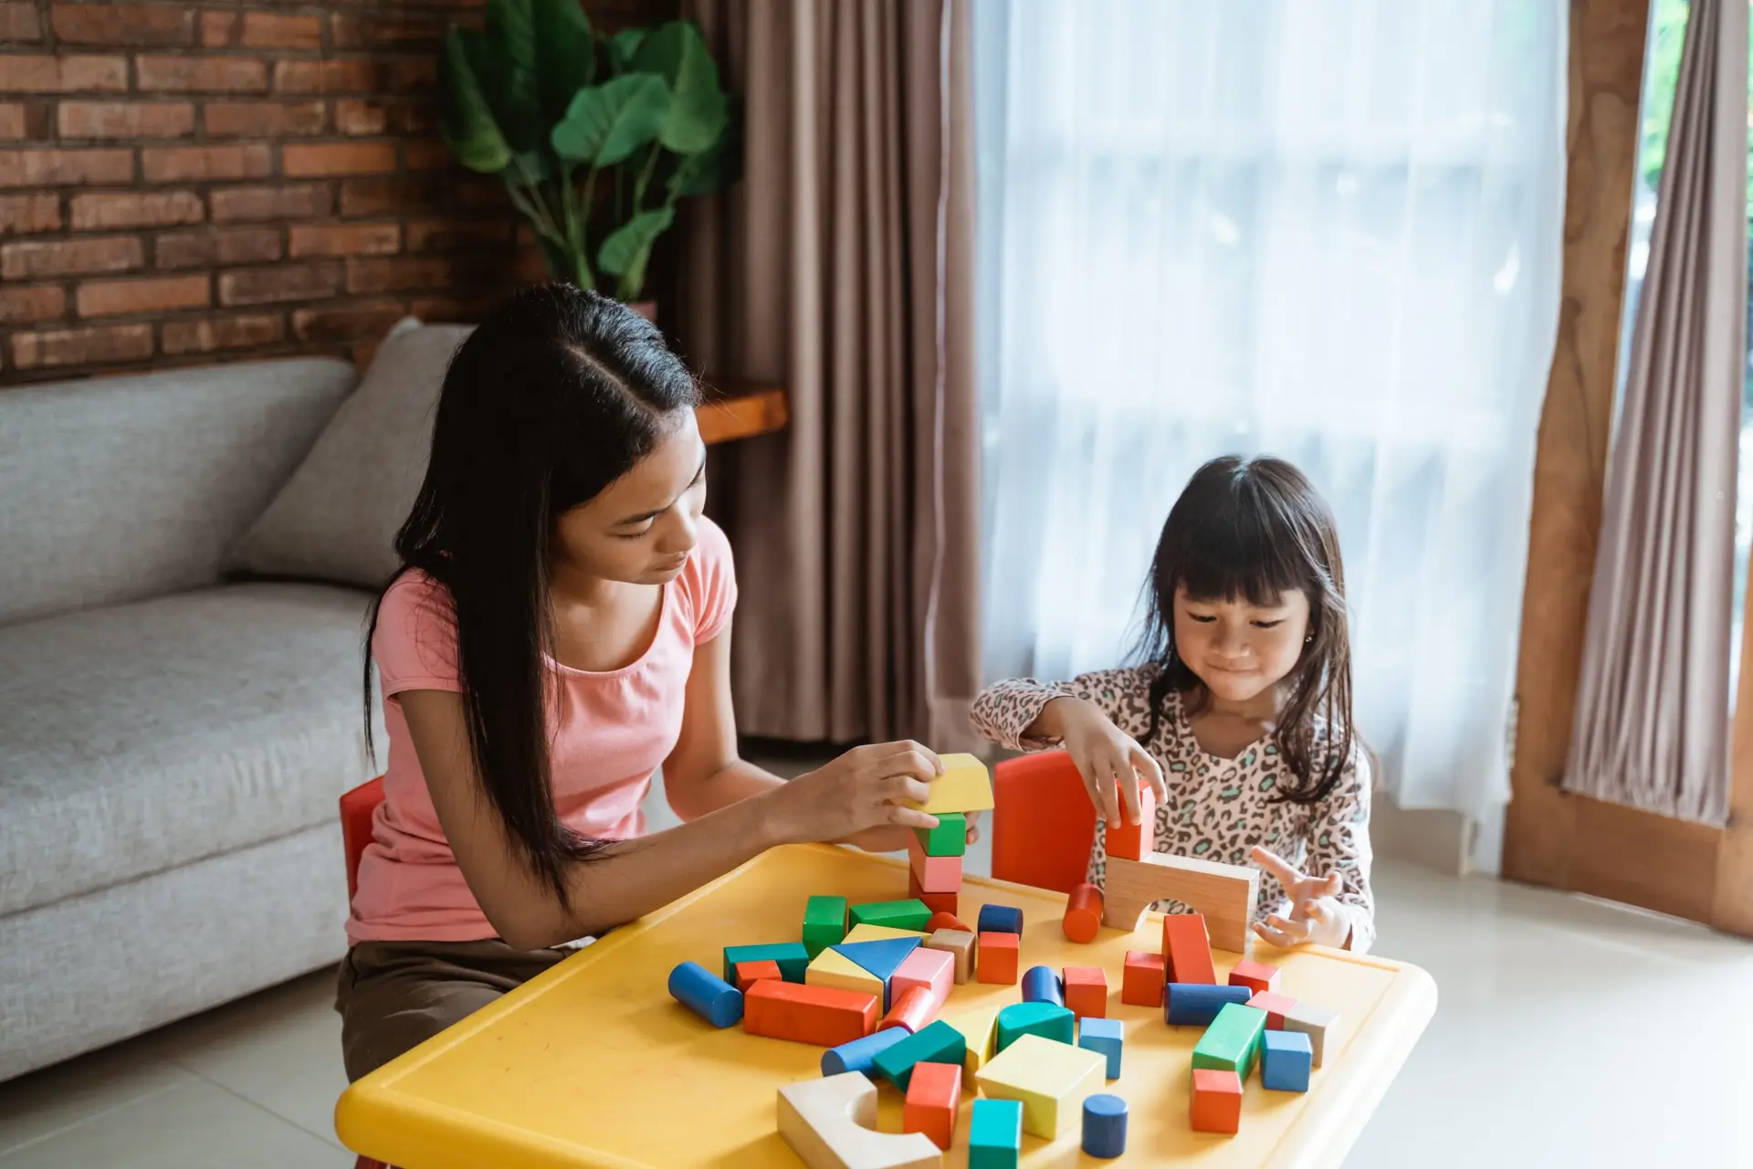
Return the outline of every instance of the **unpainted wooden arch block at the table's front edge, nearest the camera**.
[[[876,1130],[876,1085],[855,1071],[778,1090],[778,1134],[810,1169],[941,1169],[920,1132]]]

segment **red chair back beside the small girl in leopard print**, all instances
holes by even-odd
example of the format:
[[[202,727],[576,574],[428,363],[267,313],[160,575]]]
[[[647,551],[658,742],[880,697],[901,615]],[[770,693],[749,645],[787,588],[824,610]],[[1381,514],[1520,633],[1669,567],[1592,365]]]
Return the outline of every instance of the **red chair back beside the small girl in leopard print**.
[[[1096,808],[1062,750],[992,768],[992,876],[1071,892],[1089,871]]]

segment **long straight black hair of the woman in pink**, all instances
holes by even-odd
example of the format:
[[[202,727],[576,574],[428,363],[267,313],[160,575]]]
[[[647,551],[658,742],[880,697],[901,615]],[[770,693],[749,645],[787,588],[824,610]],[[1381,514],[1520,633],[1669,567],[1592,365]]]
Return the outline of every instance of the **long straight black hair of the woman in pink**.
[[[556,522],[626,475],[698,401],[687,366],[626,305],[570,284],[522,289],[451,359],[426,482],[396,533],[401,568],[387,584],[417,568],[449,591],[475,771],[514,847],[563,903],[566,862],[603,841],[566,827],[549,787]],[[368,750],[380,603],[365,643]]]

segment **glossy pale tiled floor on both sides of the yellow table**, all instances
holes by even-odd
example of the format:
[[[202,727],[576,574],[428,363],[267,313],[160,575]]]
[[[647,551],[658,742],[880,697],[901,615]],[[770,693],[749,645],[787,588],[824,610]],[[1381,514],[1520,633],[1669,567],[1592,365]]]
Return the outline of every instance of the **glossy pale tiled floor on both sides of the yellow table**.
[[[971,869],[983,871],[985,850]],[[1353,1169],[1748,1165],[1753,945],[1381,864],[1383,955],[1441,1006]],[[0,1169],[345,1167],[331,974],[0,1085]]]

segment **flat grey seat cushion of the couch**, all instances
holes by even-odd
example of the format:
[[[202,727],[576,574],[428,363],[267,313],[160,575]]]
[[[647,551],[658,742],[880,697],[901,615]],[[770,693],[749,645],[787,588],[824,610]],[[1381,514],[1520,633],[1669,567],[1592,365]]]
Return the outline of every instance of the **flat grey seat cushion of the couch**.
[[[0,627],[0,913],[337,824],[370,776],[368,601],[244,584]]]

